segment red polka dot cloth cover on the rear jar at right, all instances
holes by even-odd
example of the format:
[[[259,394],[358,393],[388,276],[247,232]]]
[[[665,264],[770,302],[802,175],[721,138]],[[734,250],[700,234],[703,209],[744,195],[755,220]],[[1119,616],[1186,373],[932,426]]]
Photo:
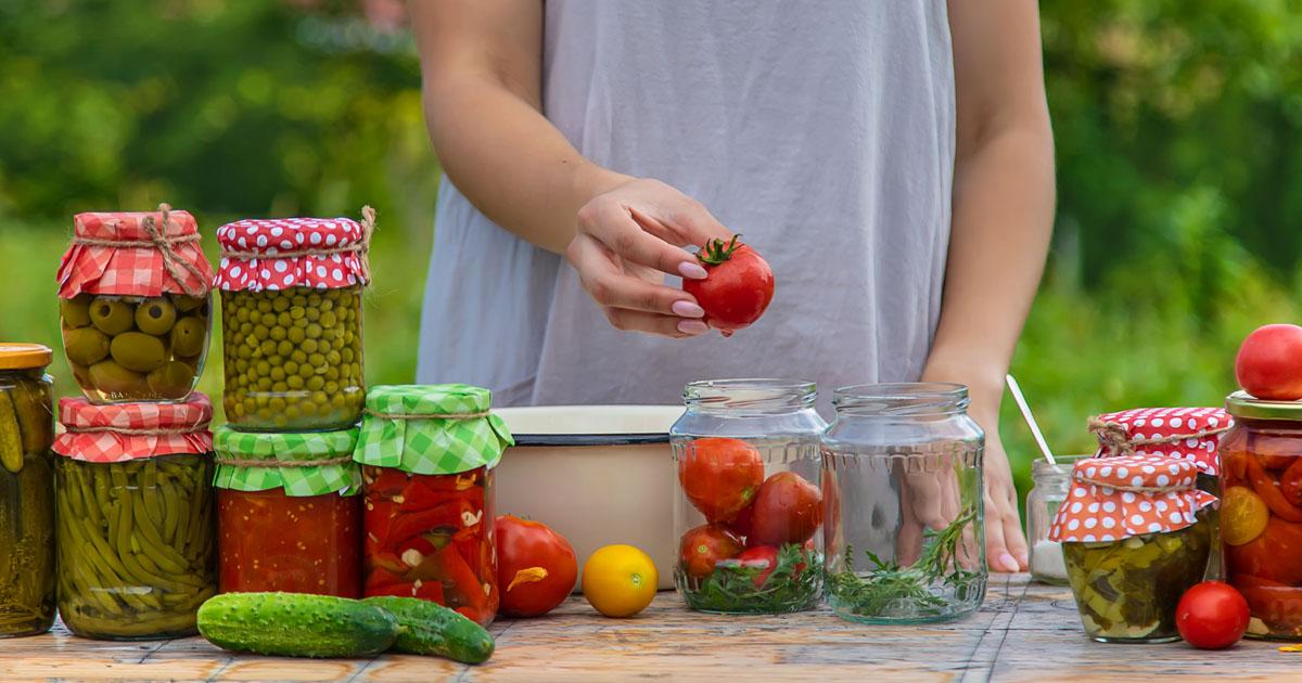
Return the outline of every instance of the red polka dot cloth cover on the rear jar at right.
[[[1099,458],[1169,455],[1212,476],[1220,476],[1220,437],[1233,425],[1224,408],[1198,407],[1131,408],[1090,420],[1090,431],[1099,438]]]

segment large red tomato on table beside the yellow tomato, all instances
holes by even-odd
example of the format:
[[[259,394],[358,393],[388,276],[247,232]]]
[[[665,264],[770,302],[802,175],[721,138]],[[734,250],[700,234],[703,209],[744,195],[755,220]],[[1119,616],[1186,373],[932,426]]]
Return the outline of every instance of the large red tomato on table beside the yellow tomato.
[[[501,515],[496,520],[500,611],[540,617],[574,591],[578,558],[564,536],[547,524]]]

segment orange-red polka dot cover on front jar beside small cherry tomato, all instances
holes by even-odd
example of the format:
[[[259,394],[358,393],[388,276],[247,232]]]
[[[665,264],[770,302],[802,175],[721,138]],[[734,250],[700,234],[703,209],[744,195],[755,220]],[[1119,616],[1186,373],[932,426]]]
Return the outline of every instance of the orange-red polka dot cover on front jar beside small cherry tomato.
[[[1072,485],[1049,526],[1049,540],[1109,542],[1180,531],[1217,501],[1194,488],[1198,467],[1165,455],[1077,461]]]

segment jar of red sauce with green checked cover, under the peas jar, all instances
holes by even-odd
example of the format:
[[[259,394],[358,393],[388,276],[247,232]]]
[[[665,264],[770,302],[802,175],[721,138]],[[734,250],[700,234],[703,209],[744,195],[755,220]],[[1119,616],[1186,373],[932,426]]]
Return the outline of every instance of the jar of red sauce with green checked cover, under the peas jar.
[[[362,597],[357,429],[214,432],[220,589]]]

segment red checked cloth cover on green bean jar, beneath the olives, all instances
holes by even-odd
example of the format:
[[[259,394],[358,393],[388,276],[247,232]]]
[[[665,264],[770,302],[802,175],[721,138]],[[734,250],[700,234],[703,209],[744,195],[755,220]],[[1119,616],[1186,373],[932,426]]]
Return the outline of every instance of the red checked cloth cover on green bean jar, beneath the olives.
[[[85,398],[59,401],[55,453],[86,462],[124,462],[182,453],[212,453],[212,402],[194,392],[184,403],[113,403]],[[165,431],[173,433],[143,435]]]

